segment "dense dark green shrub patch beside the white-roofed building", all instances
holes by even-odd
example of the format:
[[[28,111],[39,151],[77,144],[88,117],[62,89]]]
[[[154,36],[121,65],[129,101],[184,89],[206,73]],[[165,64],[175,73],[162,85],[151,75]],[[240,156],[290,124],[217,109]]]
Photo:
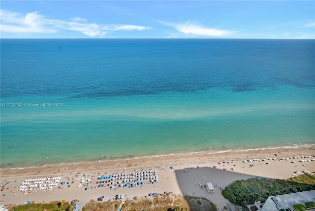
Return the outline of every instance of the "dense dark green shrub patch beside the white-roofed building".
[[[265,201],[269,196],[296,193],[315,189],[315,176],[301,175],[282,179],[237,180],[222,190],[225,199],[233,204],[246,206],[250,201]]]

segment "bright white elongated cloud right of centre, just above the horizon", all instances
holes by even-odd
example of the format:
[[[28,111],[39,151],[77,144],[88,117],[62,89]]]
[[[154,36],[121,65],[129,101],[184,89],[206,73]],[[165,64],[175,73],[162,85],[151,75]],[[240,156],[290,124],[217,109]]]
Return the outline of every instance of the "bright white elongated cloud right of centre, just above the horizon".
[[[185,24],[162,22],[166,26],[174,27],[177,31],[185,35],[203,35],[203,36],[226,36],[234,32],[226,30],[218,30],[215,28],[205,28],[190,22]]]

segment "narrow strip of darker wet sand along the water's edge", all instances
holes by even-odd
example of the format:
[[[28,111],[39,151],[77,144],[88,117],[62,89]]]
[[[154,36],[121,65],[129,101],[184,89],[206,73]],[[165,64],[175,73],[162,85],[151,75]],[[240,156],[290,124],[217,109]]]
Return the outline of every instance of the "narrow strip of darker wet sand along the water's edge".
[[[182,153],[173,153],[173,154],[166,154],[166,155],[152,155],[152,156],[142,156],[142,157],[128,157],[128,158],[116,158],[111,160],[92,160],[92,161],[82,161],[82,162],[73,162],[73,163],[46,163],[41,166],[29,166],[29,167],[0,167],[0,172],[2,177],[11,177],[11,176],[26,176],[29,174],[33,175],[42,175],[42,171],[45,170],[45,174],[58,174],[64,172],[72,172],[71,170],[77,170],[80,172],[87,171],[85,167],[90,166],[88,168],[89,171],[93,171],[94,167],[96,169],[109,169],[109,168],[121,168],[122,163],[129,161],[135,162],[135,167],[144,166],[151,162],[148,162],[148,159],[158,161],[160,160],[162,163],[167,162],[169,158],[177,157],[180,162],[185,161],[184,157],[187,159],[195,159],[195,158],[210,158],[210,159],[222,159],[224,157],[233,157],[241,158],[241,157],[248,157],[249,154],[252,156],[252,153],[259,153],[259,156],[268,155],[277,153],[281,150],[287,150],[289,152],[304,152],[308,151],[308,149],[313,149],[315,154],[315,144],[296,144],[293,146],[277,146],[277,147],[264,147],[264,148],[252,148],[252,149],[227,149],[221,151],[198,151],[198,152],[182,152]],[[268,151],[268,152],[267,152]],[[261,153],[260,153],[261,152]],[[256,155],[256,153],[254,155]],[[177,162],[177,161],[175,161]],[[155,162],[157,163],[157,162]],[[162,165],[161,163],[161,165]],[[106,165],[108,164],[108,165]],[[82,167],[80,167],[82,166]],[[133,164],[126,165],[125,168],[132,167]],[[59,171],[61,168],[64,168],[63,171]],[[48,170],[46,169],[48,168]],[[95,170],[96,170],[95,169]],[[36,170],[36,171],[35,171]],[[37,171],[38,170],[38,171]],[[56,172],[57,171],[57,172]]]

